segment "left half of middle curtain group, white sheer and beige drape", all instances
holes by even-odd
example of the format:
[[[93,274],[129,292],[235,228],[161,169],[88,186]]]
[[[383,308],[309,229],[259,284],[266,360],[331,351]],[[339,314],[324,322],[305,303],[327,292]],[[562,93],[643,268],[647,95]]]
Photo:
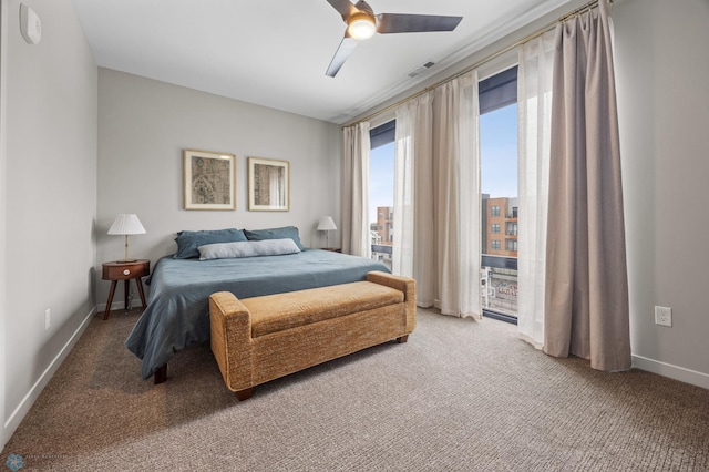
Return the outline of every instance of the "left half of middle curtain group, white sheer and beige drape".
[[[417,304],[433,306],[433,93],[397,107],[392,271],[417,280]]]

